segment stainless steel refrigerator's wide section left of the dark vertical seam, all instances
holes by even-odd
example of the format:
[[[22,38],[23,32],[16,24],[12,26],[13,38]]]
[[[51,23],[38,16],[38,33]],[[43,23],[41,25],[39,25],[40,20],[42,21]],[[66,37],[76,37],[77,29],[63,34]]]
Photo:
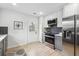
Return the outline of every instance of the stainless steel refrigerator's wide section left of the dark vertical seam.
[[[67,56],[74,56],[74,15],[62,19],[63,25],[63,47]]]

